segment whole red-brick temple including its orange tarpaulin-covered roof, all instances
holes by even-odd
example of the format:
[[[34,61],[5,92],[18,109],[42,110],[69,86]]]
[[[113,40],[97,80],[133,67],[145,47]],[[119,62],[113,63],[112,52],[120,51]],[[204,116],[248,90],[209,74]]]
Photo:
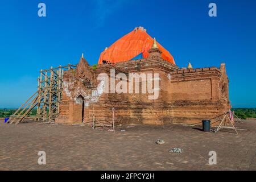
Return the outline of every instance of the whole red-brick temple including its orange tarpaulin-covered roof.
[[[129,73],[159,75],[159,96],[151,93],[105,93],[113,84],[111,71],[121,73],[129,84]],[[99,79],[101,75],[109,80]],[[153,77],[151,80],[155,80]],[[112,83],[111,83],[112,81]],[[64,91],[56,123],[90,123],[93,115],[99,121],[122,124],[198,123],[230,109],[229,80],[225,64],[220,68],[179,68],[171,54],[142,27],[117,40],[101,53],[98,65],[90,66],[82,55],[76,69],[64,72]],[[140,88],[143,81],[137,80]],[[109,88],[111,89],[111,88]]]

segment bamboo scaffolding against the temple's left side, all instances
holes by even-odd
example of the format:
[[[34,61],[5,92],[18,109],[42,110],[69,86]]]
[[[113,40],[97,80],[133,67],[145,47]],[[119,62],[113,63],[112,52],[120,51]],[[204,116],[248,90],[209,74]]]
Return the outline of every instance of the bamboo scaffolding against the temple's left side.
[[[63,92],[63,75],[67,69],[75,69],[76,65],[68,64],[57,68],[40,70],[38,90],[18,110],[11,115],[7,123],[18,124],[29,117],[32,109],[37,107],[36,121],[54,121],[60,113]],[[48,75],[48,73],[50,73]]]

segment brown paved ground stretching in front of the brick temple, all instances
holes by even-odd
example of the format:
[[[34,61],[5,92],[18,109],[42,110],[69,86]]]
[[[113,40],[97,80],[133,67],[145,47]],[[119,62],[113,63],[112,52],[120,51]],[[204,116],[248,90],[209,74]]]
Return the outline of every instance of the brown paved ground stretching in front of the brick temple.
[[[0,121],[0,170],[256,170],[256,121],[218,133],[195,126],[137,125],[116,132],[88,126],[4,124]],[[125,130],[125,131],[121,131]],[[163,139],[166,143],[156,144]],[[183,149],[182,154],[169,152]],[[46,165],[38,152],[46,152]],[[209,151],[217,164],[210,165]]]

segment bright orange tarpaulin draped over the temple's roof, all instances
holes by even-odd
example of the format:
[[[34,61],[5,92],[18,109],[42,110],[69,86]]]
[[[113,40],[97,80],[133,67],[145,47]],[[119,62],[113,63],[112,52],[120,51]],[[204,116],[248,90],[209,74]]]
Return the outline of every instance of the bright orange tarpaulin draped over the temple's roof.
[[[122,61],[129,61],[134,59],[142,53],[143,58],[148,57],[148,50],[151,49],[154,39],[147,34],[143,27],[135,28],[129,34],[117,40],[112,46],[101,52],[98,64],[103,61],[108,63],[119,63]],[[175,64],[174,57],[163,46],[157,43],[160,51],[162,51],[162,58]]]

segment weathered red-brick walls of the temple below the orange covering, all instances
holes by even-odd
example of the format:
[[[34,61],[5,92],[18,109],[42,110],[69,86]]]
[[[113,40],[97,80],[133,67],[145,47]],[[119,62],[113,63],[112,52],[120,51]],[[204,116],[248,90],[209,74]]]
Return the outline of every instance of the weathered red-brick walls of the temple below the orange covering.
[[[225,64],[221,64],[220,69],[179,69],[162,60],[160,53],[151,50],[148,59],[98,65],[97,69],[90,67],[82,58],[76,70],[64,73],[63,100],[55,122],[82,123],[82,108],[85,123],[92,122],[93,114],[101,121],[112,122],[114,107],[117,123],[197,123],[230,108]],[[148,100],[148,93],[101,93],[92,97],[93,90],[101,87],[98,75],[105,73],[110,77],[112,68],[116,74],[124,73],[127,77],[128,73],[158,73],[159,98]],[[115,84],[118,82],[115,80]],[[79,97],[84,107],[78,101]]]

